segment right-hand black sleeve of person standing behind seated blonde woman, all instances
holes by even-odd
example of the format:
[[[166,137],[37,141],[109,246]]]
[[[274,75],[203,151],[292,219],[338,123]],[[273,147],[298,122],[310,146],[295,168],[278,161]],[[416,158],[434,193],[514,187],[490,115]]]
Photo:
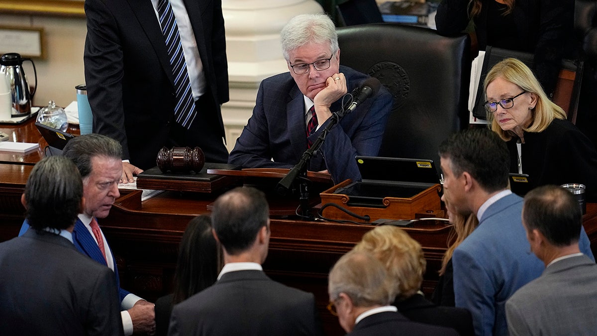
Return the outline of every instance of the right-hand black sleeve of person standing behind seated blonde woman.
[[[555,90],[562,58],[573,36],[574,0],[542,0],[540,6],[534,64],[537,80],[549,96]]]

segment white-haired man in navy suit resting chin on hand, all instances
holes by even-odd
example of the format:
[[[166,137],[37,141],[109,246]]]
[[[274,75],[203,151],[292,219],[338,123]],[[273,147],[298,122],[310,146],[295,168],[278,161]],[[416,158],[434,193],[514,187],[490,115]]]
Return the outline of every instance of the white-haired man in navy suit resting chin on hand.
[[[325,14],[294,17],[282,29],[281,39],[290,72],[261,82],[253,116],[230,152],[229,163],[293,167],[331,122],[332,112],[341,109],[341,97],[368,78],[340,66],[336,28]],[[355,156],[377,155],[391,108],[392,96],[381,87],[341,118],[307,168],[327,170],[336,182],[360,180]]]

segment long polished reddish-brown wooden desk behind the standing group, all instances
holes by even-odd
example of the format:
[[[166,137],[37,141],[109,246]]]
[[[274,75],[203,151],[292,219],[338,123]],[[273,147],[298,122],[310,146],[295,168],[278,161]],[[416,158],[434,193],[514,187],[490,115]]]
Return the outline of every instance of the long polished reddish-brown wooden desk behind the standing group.
[[[17,139],[19,141],[39,141],[45,146],[32,125],[0,125],[0,130],[23,136],[23,139]],[[42,149],[24,155],[0,153],[0,242],[19,232],[24,219],[20,197],[33,164],[43,154]],[[141,201],[140,190],[121,190],[121,197],[116,200],[110,215],[99,222],[113,249],[122,288],[150,301],[171,292],[177,249],[187,223],[196,215],[208,213],[210,204],[223,191],[215,194],[165,191]],[[334,262],[373,227],[305,221],[294,215],[284,215],[287,212],[276,212],[298,206],[298,200],[273,194],[269,194],[268,200],[272,210],[271,239],[264,270],[274,280],[313,292],[327,334],[344,334],[337,317],[325,308],[328,304],[327,274]],[[587,204],[583,222],[592,246],[597,246],[597,204]],[[440,221],[419,221],[404,230],[423,246],[427,259],[423,291],[429,294],[438,279],[437,271],[452,227]]]

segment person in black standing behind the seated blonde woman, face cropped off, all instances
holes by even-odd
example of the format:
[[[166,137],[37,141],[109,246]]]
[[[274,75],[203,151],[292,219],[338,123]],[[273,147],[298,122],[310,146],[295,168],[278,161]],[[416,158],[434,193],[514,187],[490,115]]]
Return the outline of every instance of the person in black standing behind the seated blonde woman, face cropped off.
[[[553,92],[562,58],[573,58],[574,0],[442,0],[435,16],[438,33],[447,36],[470,20],[479,50],[491,45],[533,53],[541,84]]]

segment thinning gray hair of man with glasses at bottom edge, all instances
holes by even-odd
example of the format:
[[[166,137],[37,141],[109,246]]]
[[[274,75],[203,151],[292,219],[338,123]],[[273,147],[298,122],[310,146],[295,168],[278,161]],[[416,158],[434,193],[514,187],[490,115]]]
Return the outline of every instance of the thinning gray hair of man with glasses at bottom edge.
[[[340,293],[348,295],[356,307],[387,306],[395,290],[386,267],[367,252],[350,251],[343,255],[330,271],[330,300]]]

